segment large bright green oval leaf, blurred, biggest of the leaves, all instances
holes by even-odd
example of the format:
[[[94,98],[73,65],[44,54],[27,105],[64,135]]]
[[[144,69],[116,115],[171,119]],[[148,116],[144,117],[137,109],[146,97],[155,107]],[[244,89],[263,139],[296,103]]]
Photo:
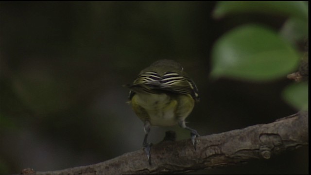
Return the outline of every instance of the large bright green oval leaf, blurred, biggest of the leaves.
[[[299,56],[275,32],[244,25],[223,35],[212,49],[212,77],[273,80],[298,66]]]

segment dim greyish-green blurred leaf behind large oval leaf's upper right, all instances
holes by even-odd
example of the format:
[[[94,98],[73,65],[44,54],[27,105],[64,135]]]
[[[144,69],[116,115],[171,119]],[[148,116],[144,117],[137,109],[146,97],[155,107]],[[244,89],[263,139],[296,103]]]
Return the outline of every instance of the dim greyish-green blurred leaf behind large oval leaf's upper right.
[[[294,44],[309,37],[308,24],[299,18],[289,18],[284,23],[280,34]]]

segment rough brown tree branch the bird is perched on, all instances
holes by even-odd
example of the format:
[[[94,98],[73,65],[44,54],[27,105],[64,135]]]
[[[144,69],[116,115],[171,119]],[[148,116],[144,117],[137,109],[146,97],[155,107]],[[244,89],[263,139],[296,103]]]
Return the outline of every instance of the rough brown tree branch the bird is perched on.
[[[166,139],[152,146],[152,165],[144,151],[138,150],[94,165],[50,172],[24,169],[22,174],[170,174],[237,164],[253,158],[268,159],[309,144],[308,116],[308,112],[298,112],[273,123],[202,136],[197,138],[196,150],[190,140]]]

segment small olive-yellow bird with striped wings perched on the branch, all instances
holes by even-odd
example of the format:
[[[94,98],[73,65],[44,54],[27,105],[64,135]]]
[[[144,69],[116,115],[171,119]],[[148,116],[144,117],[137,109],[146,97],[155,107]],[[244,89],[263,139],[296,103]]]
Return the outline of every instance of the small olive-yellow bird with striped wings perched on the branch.
[[[149,164],[151,143],[147,142],[150,126],[173,126],[190,130],[192,144],[199,137],[196,130],[186,126],[185,119],[199,101],[198,89],[183,71],[181,65],[173,60],[158,60],[138,74],[130,88],[129,103],[138,118],[144,123],[145,137],[143,148]]]

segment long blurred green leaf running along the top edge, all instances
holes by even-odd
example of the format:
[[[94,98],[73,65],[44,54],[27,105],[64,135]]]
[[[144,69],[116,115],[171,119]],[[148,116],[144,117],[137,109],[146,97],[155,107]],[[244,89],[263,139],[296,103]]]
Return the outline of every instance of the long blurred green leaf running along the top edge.
[[[285,15],[308,21],[306,1],[219,1],[213,12],[215,18],[236,13],[264,13]]]

